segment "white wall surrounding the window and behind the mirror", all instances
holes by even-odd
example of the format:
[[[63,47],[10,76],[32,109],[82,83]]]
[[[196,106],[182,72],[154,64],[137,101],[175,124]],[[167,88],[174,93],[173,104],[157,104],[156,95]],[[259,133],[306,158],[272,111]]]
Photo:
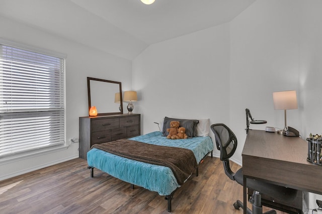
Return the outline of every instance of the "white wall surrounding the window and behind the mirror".
[[[88,116],[87,77],[122,82],[131,88],[132,63],[101,51],[76,44],[53,34],[0,17],[0,38],[65,54],[66,58],[66,140],[78,138],[78,117]],[[78,143],[67,149],[2,161],[0,180],[78,157]]]

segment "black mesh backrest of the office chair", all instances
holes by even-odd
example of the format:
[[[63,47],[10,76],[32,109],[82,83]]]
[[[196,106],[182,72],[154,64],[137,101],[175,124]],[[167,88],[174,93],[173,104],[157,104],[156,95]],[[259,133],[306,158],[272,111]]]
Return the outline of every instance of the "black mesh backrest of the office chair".
[[[235,134],[223,123],[216,123],[210,126],[215,134],[216,146],[220,150],[220,160],[223,163],[226,175],[234,180],[234,175],[229,166],[229,158],[237,148],[237,138]]]

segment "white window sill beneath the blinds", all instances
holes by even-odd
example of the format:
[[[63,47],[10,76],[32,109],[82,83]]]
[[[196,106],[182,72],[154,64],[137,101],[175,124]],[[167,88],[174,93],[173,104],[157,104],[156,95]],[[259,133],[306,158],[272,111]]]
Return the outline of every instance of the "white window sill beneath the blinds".
[[[3,157],[0,157],[0,165],[15,162],[17,160],[24,160],[30,157],[37,157],[48,153],[65,150],[68,147],[69,147],[68,145],[58,145],[58,146],[47,147],[47,148],[37,149],[33,151],[26,151],[18,154],[3,156]]]

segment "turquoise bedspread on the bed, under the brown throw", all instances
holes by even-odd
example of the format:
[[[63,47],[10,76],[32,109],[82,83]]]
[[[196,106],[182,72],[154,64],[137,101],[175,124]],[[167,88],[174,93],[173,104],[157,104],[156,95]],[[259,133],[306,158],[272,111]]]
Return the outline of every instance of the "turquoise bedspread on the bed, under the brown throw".
[[[195,154],[198,163],[208,152],[213,150],[213,142],[210,137],[171,140],[163,136],[162,132],[156,131],[130,139],[155,145],[190,149]],[[169,167],[127,159],[96,148],[87,153],[87,161],[91,167],[150,191],[156,191],[159,195],[170,195],[180,187]]]

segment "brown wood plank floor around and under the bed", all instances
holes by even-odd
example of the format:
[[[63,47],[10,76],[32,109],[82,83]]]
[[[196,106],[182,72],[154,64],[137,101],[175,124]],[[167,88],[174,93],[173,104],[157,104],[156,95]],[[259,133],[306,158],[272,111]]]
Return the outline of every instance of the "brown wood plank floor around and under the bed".
[[[231,163],[233,171],[239,166]],[[180,187],[172,213],[243,213],[233,207],[243,187],[229,180],[218,158],[206,157],[199,176]],[[268,210],[264,207],[264,210]],[[156,192],[116,179],[98,169],[91,178],[86,160],[76,158],[0,181],[0,213],[168,213]],[[278,214],[284,212],[277,211]]]

